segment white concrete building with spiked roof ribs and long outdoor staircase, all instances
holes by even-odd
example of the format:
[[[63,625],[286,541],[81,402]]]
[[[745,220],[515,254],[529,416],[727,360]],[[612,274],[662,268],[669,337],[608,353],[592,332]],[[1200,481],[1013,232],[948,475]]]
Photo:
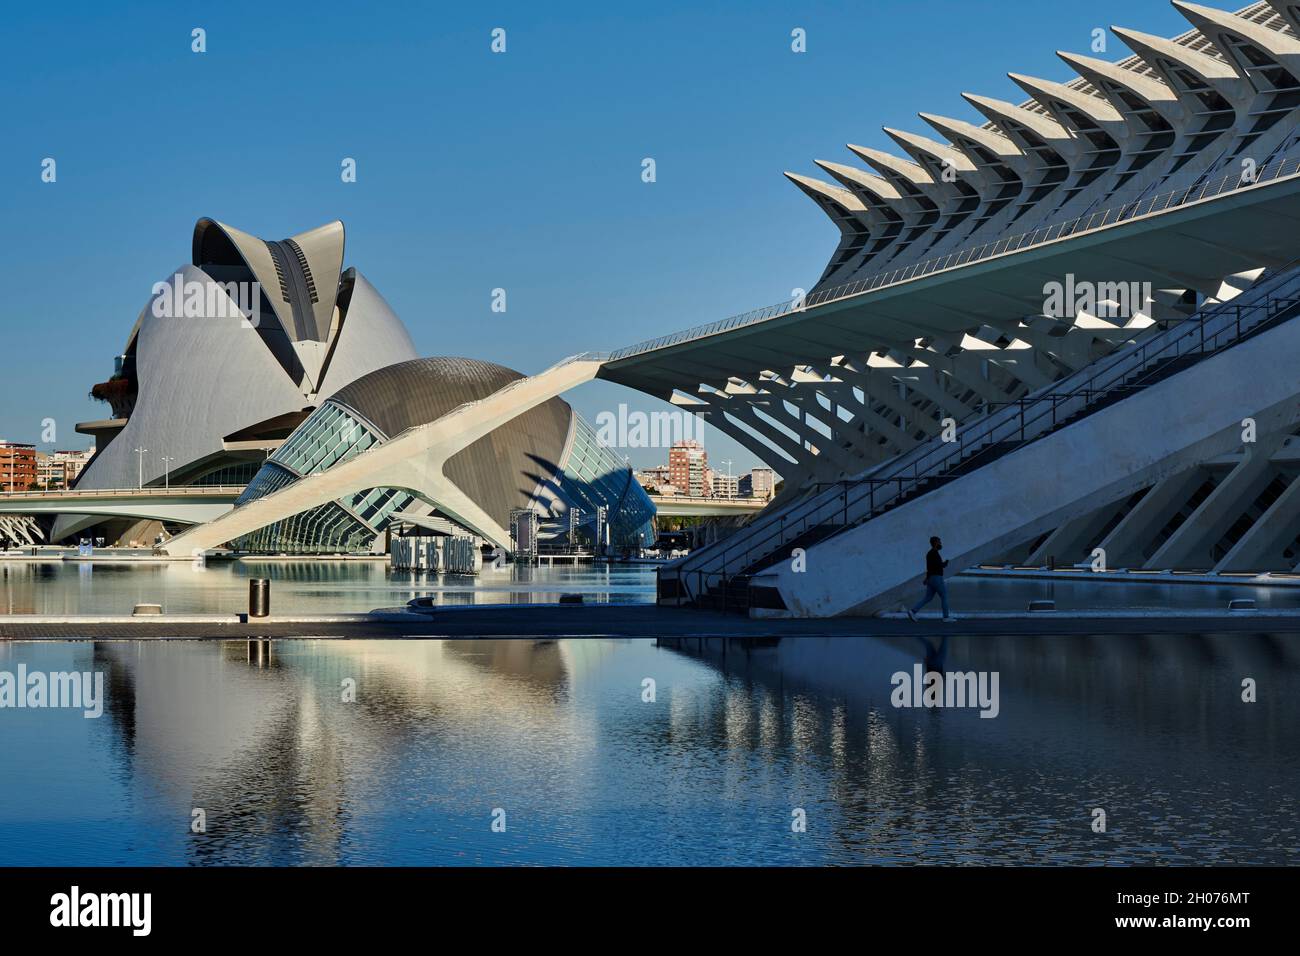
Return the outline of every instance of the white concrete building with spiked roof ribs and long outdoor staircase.
[[[840,235],[811,291],[614,352],[784,476],[662,600],[870,613],[932,533],[953,568],[1300,570],[1300,4],[1174,7],[1175,38],[1114,27],[1117,62],[789,173]]]

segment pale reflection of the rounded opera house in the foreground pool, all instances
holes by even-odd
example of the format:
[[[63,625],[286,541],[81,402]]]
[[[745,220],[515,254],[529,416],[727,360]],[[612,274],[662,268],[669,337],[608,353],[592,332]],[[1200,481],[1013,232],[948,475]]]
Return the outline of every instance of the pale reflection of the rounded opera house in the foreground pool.
[[[419,762],[446,739],[482,736],[473,753],[484,766],[545,739],[580,773],[598,732],[567,701],[608,648],[321,640],[108,643],[95,653],[133,777],[177,826],[207,812],[191,858],[255,864],[338,861],[347,818],[384,812],[391,762]],[[344,680],[355,704],[342,700]]]

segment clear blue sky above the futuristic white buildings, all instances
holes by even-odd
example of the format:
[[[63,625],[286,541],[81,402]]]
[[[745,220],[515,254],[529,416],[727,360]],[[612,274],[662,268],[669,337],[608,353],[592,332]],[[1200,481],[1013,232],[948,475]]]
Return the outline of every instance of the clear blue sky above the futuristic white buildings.
[[[918,111],[979,120],[963,90],[1020,101],[1008,70],[1067,79],[1053,51],[1110,23],[1187,29],[1156,0],[9,5],[0,437],[53,418],[60,447],[88,444],[73,424],[107,406],[86,393],[202,216],[265,238],[342,219],[421,354],[523,372],[785,299],[837,233],[783,170],[893,150],[881,126],[932,134]],[[662,407],[569,398],[592,420]]]

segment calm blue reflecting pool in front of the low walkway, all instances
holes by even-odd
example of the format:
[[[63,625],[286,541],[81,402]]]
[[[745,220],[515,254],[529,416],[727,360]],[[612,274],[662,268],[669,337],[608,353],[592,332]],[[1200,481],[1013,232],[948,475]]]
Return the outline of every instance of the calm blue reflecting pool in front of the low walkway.
[[[996,671],[997,717],[893,706],[916,663]],[[0,645],[20,666],[107,701],[0,709],[0,865],[1300,860],[1291,639]]]

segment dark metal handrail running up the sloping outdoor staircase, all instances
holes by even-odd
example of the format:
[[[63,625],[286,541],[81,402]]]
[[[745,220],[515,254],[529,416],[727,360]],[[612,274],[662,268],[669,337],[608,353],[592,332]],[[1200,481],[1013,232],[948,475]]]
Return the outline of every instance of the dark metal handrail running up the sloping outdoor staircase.
[[[878,512],[893,507],[900,498],[922,483],[944,477],[953,467],[979,463],[1005,441],[1032,441],[1053,431],[1060,421],[1092,407],[1106,394],[1118,389],[1143,388],[1158,371],[1153,368],[1157,360],[1164,364],[1164,359],[1180,355],[1204,358],[1221,347],[1227,347],[1242,337],[1243,330],[1249,333],[1286,310],[1300,306],[1300,295],[1271,294],[1283,286],[1294,285],[1300,278],[1288,274],[1290,268],[1297,263],[1300,259],[1271,271],[1268,280],[1262,280],[1253,290],[1243,293],[1243,297],[1249,299],[1247,303],[1228,302],[1197,312],[1195,320],[1184,320],[1160,336],[1105,356],[1061,382],[1053,382],[1032,395],[1000,403],[1001,411],[987,415],[971,428],[962,431],[958,441],[931,440],[913,453],[894,459],[893,464],[898,467],[892,468],[892,473],[872,473],[859,479],[812,485],[814,493],[810,497],[792,502],[788,509],[767,519],[759,518],[758,523],[750,525],[755,532],[766,529],[767,533],[762,537],[748,533],[744,541],[720,542],[720,554],[712,555],[707,564],[718,570],[692,566],[688,558],[679,574],[688,580],[692,574],[722,575],[725,584],[728,568],[733,564],[744,570],[770,555],[775,548],[806,533],[810,527],[831,524],[842,529],[868,520]],[[1264,311],[1262,317],[1247,321],[1243,328],[1243,315],[1258,310]],[[1208,326],[1214,328],[1209,334]],[[1231,337],[1219,343],[1219,337],[1228,333]],[[1061,392],[1062,386],[1067,390]],[[931,462],[930,459],[936,455],[937,460]],[[820,490],[823,488],[828,490]],[[841,489],[838,494],[833,493],[836,488]],[[857,492],[852,497],[850,489]],[[883,492],[879,501],[878,489]],[[890,489],[892,496],[887,494]],[[861,506],[863,502],[867,505],[864,512],[861,509],[854,510],[854,506]],[[853,510],[852,519],[850,510]],[[736,548],[742,550],[733,550]]]

